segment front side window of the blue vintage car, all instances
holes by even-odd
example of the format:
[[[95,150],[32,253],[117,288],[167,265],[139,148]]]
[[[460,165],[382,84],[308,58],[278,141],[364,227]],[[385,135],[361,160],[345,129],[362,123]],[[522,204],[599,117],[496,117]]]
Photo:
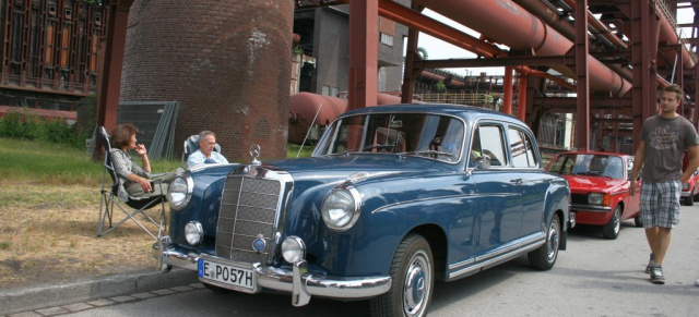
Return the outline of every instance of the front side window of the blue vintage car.
[[[478,158],[488,156],[491,167],[508,164],[505,154],[502,127],[499,125],[483,124],[476,127],[471,144],[469,167],[475,167]]]

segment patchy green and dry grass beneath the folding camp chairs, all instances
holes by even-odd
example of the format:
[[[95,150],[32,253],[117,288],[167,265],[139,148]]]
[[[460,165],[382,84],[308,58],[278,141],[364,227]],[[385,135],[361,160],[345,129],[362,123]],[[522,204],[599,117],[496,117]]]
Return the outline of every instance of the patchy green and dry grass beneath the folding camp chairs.
[[[298,148],[289,144],[288,157]],[[310,150],[304,147],[301,157]],[[151,164],[158,173],[179,161]],[[96,237],[103,170],[83,150],[0,137],[0,289],[155,267],[154,240],[132,221]]]

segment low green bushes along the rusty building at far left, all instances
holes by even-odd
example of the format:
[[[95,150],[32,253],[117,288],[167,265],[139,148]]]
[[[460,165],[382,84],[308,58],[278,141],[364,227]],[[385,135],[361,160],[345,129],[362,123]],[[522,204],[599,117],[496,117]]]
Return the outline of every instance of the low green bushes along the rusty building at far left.
[[[25,107],[23,111],[8,112],[0,118],[0,137],[17,139],[43,139],[67,145],[74,148],[85,146],[88,133],[76,134],[74,126],[70,126],[61,120],[45,120],[33,114]]]

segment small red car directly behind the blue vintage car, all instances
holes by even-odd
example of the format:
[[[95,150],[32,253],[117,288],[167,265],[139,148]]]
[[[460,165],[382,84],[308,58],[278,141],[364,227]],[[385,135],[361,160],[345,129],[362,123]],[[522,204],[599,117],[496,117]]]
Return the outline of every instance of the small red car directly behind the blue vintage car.
[[[603,151],[567,151],[555,156],[546,170],[560,174],[570,184],[570,212],[576,222],[602,225],[602,235],[616,239],[621,221],[635,219],[641,227],[640,181],[630,195],[629,178],[633,157]]]

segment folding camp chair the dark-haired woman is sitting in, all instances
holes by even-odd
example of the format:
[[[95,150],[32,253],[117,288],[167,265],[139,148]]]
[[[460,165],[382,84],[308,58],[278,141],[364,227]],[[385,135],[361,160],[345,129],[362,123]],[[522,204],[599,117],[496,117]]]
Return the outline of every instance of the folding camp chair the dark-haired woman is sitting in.
[[[150,234],[153,239],[158,240],[161,233],[164,229],[163,221],[165,219],[165,193],[162,195],[150,196],[150,197],[131,197],[126,203],[119,202],[119,176],[115,172],[114,164],[110,158],[111,145],[109,144],[109,135],[104,126],[97,127],[97,137],[102,145],[105,148],[105,162],[104,162],[104,172],[102,174],[102,200],[99,202],[99,227],[97,228],[97,236],[103,236],[109,233],[111,230],[119,227],[121,223],[125,223],[127,220],[133,220],[141,229],[145,230],[147,234]],[[109,176],[111,176],[111,186],[107,185],[107,172],[109,172]],[[153,180],[154,186],[161,185],[161,180]],[[126,205],[126,206],[125,206]],[[147,209],[151,209],[155,206],[161,206],[159,219],[156,221],[153,217],[149,216],[144,212]],[[119,220],[116,224],[112,223],[114,219],[114,207],[119,208],[126,216]],[[128,209],[133,210],[128,210]],[[146,220],[155,224],[157,232],[147,229],[139,219],[137,219],[138,215],[142,215]],[[109,221],[109,228],[104,230],[105,219]]]

